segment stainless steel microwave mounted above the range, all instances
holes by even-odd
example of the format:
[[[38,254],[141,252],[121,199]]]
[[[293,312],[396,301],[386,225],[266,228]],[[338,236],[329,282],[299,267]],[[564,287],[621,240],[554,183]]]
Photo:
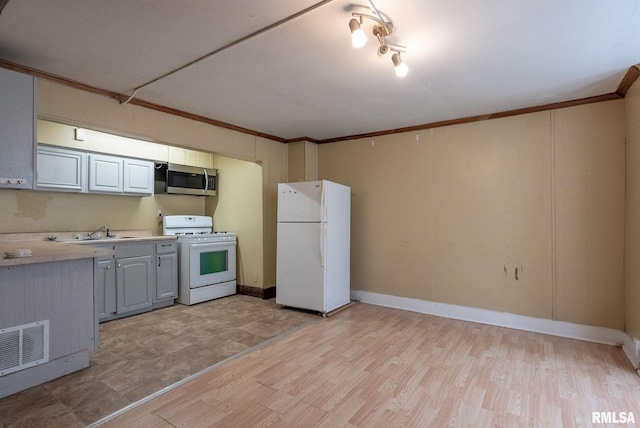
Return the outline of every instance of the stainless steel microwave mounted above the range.
[[[155,193],[215,196],[217,189],[217,169],[175,163],[156,164]]]

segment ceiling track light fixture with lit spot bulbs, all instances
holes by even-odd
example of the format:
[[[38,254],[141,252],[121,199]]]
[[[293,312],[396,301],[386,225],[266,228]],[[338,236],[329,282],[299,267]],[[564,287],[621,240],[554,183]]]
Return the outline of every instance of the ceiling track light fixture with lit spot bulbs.
[[[353,18],[349,21],[349,30],[351,30],[351,44],[354,48],[361,48],[367,43],[367,36],[362,29],[363,19],[367,18],[375,22],[373,25],[372,33],[378,39],[380,46],[378,47],[378,56],[385,58],[389,52],[393,52],[391,55],[391,61],[396,70],[396,76],[404,77],[409,72],[409,67],[402,61],[400,57],[401,52],[406,52],[407,49],[404,46],[394,45],[389,43],[386,38],[393,33],[393,24],[382,19],[380,13],[375,8],[373,3],[369,2],[372,6],[372,10],[378,15],[368,15],[365,13],[354,12],[351,15]],[[357,18],[357,19],[356,19]]]

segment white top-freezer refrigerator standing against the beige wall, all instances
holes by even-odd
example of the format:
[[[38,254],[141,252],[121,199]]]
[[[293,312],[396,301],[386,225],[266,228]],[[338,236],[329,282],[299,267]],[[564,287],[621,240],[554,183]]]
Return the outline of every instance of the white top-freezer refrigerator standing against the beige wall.
[[[351,189],[278,184],[276,303],[322,314],[350,301]]]

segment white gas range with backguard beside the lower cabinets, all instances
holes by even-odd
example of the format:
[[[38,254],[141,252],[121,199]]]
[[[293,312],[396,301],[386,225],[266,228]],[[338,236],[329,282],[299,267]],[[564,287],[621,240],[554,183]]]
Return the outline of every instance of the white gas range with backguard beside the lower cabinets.
[[[214,232],[209,216],[163,218],[163,234],[178,237],[178,303],[193,305],[236,294],[236,234]]]

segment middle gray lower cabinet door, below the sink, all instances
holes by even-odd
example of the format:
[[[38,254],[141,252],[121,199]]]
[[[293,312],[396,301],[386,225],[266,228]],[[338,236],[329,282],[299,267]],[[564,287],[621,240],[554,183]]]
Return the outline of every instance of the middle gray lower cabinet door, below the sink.
[[[117,313],[151,306],[153,264],[151,255],[116,260]]]

